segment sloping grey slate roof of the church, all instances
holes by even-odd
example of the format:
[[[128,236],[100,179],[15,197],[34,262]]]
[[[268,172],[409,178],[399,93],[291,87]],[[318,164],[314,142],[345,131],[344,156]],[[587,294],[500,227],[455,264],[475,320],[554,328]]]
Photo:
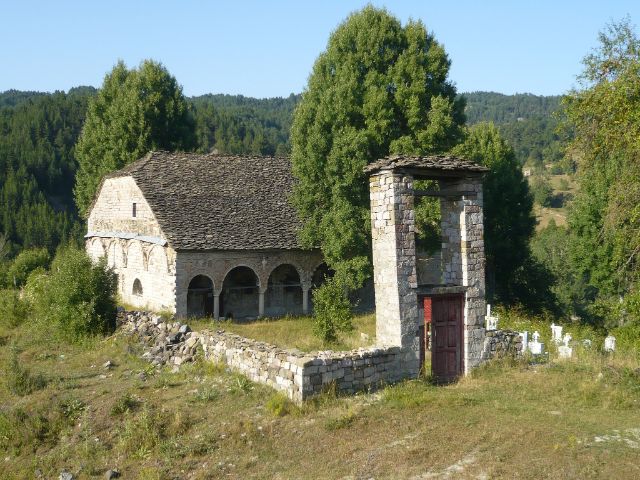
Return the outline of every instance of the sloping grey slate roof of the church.
[[[151,152],[131,176],[176,250],[300,248],[289,159]]]

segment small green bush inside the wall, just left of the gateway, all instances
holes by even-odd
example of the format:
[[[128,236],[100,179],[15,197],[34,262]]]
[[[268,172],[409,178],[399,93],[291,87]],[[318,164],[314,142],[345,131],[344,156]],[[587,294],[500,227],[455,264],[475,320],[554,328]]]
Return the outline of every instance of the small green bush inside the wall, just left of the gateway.
[[[313,333],[324,342],[335,342],[338,332],[353,330],[349,290],[340,278],[327,279],[313,291]]]

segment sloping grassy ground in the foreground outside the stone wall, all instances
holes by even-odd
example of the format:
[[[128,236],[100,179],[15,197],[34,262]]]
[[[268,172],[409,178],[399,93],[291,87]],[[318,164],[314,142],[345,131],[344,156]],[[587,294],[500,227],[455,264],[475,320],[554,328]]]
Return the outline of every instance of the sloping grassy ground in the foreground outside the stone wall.
[[[0,344],[3,478],[640,477],[640,370],[624,357],[496,362],[297,407],[219,365],[154,371],[118,335],[69,346],[23,326]]]

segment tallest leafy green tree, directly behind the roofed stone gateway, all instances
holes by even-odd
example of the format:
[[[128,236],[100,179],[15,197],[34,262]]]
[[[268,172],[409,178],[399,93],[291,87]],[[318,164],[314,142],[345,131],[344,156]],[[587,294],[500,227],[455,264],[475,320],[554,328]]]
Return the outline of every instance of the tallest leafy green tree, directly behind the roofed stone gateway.
[[[443,152],[461,138],[464,103],[449,66],[421,22],[403,26],[372,6],[340,24],[314,64],[291,131],[293,201],[303,243],[355,283],[369,271],[363,167],[392,153]]]

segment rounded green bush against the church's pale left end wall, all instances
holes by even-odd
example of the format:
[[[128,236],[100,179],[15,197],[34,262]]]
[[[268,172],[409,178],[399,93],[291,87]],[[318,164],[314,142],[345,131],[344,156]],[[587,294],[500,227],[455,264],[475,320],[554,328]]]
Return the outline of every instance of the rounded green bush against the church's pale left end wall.
[[[65,339],[78,342],[113,332],[116,286],[116,276],[104,261],[93,264],[84,250],[64,247],[47,274],[29,277],[26,294],[41,326],[52,326]]]

